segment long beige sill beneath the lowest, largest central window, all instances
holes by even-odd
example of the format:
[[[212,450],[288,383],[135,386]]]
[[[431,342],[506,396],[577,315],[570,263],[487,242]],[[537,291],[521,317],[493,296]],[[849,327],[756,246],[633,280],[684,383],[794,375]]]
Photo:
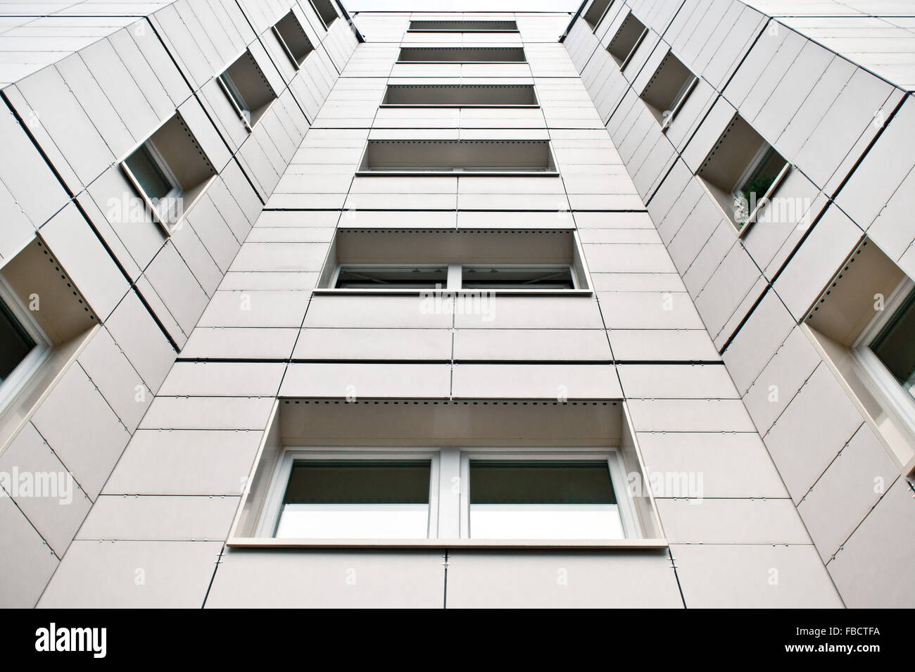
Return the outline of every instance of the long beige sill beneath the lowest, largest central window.
[[[230,537],[238,549],[666,549],[666,539],[272,539]]]

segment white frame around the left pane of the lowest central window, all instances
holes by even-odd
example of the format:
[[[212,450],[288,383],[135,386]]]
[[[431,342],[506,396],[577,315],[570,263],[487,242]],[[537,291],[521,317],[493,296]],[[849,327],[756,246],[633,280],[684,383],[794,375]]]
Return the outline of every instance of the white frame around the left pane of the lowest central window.
[[[270,487],[264,500],[264,509],[257,522],[256,534],[261,538],[276,539],[275,531],[279,525],[280,514],[283,510],[283,497],[292,468],[296,462],[307,460],[429,460],[429,520],[426,527],[425,539],[435,539],[438,535],[438,483],[440,449],[438,448],[334,448],[334,447],[287,447],[276,461],[274,474],[271,477]],[[278,539],[280,541],[295,542],[295,539]]]

